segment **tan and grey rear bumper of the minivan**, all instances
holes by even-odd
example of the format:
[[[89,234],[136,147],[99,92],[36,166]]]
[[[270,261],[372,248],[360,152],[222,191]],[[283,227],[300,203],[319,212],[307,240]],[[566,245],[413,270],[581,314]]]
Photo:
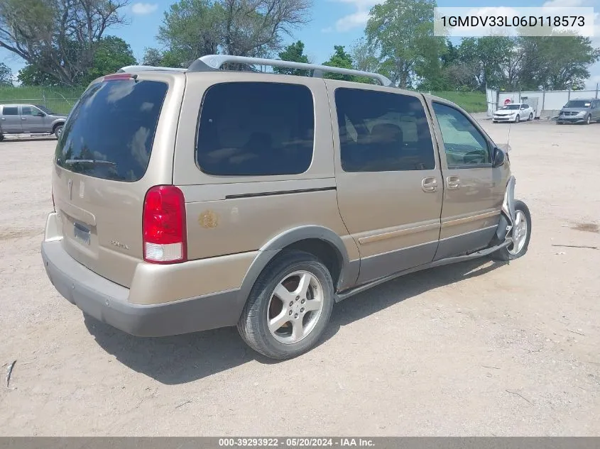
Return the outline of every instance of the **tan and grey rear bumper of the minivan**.
[[[62,248],[61,240],[45,240],[41,253],[50,282],[62,296],[85,314],[133,336],[235,326],[244,304],[239,289],[162,304],[133,304],[128,301],[129,289],[81,265]]]

